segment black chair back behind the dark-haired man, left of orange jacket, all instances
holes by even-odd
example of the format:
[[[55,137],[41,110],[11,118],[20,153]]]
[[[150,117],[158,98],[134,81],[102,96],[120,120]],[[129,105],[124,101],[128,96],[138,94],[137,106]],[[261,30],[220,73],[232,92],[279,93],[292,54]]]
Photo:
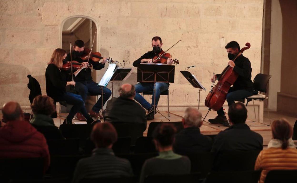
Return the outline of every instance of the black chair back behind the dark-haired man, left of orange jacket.
[[[217,156],[215,170],[218,171],[251,171],[260,151],[228,151]]]

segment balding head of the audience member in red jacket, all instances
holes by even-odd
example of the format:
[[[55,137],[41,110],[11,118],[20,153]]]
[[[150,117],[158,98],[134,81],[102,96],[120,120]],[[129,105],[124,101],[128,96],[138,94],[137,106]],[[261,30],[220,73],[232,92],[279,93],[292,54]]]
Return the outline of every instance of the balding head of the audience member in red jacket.
[[[23,111],[20,104],[14,101],[3,105],[2,114],[5,121],[23,120]]]

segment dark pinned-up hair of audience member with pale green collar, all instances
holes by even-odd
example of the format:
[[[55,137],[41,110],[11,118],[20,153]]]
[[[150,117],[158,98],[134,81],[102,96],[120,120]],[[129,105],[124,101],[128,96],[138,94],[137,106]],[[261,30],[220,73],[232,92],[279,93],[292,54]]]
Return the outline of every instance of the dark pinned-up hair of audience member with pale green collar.
[[[157,140],[162,147],[173,144],[176,128],[172,124],[160,124],[153,132],[153,139]]]

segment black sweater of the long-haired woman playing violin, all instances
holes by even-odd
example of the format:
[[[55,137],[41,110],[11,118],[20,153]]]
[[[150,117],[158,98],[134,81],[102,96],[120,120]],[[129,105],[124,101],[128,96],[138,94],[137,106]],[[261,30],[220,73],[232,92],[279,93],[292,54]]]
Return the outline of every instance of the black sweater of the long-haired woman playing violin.
[[[67,84],[66,76],[54,64],[48,64],[45,71],[46,94],[59,101],[61,96],[66,92],[65,87]]]

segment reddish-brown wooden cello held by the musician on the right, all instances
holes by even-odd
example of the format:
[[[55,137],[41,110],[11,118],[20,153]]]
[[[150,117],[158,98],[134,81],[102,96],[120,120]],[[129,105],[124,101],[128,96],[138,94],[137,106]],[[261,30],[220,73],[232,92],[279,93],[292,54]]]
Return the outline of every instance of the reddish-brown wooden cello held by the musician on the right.
[[[241,53],[244,52],[244,50],[249,49],[251,44],[246,43],[245,46],[246,47],[243,47],[237,53],[236,57],[232,60],[233,62],[236,60],[236,58],[238,58],[239,55],[241,55]],[[205,99],[204,104],[209,108],[209,110],[213,109],[214,111],[218,111],[222,108],[223,104],[225,103],[227,93],[231,85],[233,85],[233,83],[236,81],[237,77],[238,74],[229,65],[223,70],[222,74],[220,74],[217,78],[217,84],[214,87],[211,86],[211,90]]]

